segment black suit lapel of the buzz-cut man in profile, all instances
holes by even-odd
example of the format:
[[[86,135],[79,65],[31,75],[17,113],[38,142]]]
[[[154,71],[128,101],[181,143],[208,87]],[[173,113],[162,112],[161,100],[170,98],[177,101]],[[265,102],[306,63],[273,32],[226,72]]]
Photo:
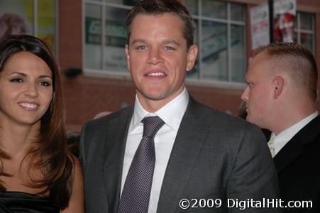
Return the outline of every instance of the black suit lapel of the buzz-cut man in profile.
[[[284,170],[292,161],[304,153],[304,146],[314,141],[319,134],[320,116],[309,122],[275,155],[277,173]]]

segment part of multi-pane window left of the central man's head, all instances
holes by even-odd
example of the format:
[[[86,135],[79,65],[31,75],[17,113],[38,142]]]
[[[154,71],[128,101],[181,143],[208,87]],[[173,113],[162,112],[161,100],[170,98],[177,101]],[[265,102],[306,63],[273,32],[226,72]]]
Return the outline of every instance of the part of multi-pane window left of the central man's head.
[[[127,72],[125,21],[130,7],[115,4],[119,1],[106,2],[85,4],[84,67],[98,72]]]

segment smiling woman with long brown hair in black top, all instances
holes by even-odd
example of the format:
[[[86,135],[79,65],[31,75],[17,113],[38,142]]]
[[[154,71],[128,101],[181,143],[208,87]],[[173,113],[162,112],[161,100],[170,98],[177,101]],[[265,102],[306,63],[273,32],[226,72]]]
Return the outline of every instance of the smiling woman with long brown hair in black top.
[[[0,42],[0,212],[84,212],[57,64],[31,35]]]

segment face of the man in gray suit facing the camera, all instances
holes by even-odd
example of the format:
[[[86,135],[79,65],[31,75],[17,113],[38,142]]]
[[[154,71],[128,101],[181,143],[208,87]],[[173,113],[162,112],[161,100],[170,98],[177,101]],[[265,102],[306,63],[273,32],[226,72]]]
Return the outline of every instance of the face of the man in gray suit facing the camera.
[[[128,70],[145,109],[150,104],[159,109],[184,88],[197,47],[187,49],[182,30],[182,20],[170,13],[139,14],[131,23],[130,43],[126,45]]]

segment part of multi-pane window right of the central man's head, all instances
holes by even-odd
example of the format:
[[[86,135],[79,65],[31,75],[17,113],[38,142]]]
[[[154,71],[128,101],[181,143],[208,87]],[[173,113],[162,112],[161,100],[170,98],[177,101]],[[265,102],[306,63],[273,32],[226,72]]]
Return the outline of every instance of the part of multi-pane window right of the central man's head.
[[[227,1],[182,0],[197,23],[199,56],[192,75],[199,80],[243,82],[245,5]]]

